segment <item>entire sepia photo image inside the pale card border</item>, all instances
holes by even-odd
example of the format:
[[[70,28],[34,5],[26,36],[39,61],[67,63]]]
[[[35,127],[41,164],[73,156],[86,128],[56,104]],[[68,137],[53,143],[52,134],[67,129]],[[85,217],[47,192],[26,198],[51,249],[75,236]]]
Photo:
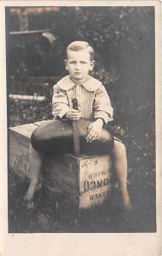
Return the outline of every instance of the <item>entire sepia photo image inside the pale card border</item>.
[[[154,6],[6,6],[9,233],[155,233]]]

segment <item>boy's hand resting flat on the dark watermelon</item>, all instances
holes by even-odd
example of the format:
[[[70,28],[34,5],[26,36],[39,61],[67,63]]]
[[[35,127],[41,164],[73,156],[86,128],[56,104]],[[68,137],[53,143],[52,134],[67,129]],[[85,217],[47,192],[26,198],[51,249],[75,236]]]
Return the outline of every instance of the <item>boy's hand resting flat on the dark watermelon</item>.
[[[87,143],[91,143],[101,137],[101,131],[103,127],[102,119],[96,119],[95,122],[91,123],[88,128],[88,135],[86,137]]]

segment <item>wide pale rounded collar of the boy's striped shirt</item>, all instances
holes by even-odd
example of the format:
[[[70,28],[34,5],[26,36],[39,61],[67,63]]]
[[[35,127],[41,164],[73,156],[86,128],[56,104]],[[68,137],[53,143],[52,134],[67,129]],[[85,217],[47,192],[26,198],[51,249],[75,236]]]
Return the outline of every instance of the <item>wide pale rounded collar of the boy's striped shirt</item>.
[[[61,88],[61,90],[71,90],[75,85],[72,82],[72,80],[70,79],[70,76],[66,76],[63,79],[61,79],[57,85]],[[85,80],[85,82],[83,84],[81,84],[80,86],[83,86],[86,90],[89,91],[95,91],[99,88],[99,86],[101,85],[101,82],[98,81],[97,79],[92,78],[91,76],[87,76],[87,79]]]

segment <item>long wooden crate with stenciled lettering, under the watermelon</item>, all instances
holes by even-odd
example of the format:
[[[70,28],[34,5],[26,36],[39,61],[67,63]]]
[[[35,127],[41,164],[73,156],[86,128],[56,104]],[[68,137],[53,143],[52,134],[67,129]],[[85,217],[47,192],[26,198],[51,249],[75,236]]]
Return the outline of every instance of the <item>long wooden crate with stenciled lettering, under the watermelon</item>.
[[[20,177],[30,177],[28,148],[32,131],[41,125],[27,124],[9,129],[9,166]],[[57,155],[43,159],[43,185],[61,194],[78,209],[100,205],[111,190],[112,161],[109,155]]]

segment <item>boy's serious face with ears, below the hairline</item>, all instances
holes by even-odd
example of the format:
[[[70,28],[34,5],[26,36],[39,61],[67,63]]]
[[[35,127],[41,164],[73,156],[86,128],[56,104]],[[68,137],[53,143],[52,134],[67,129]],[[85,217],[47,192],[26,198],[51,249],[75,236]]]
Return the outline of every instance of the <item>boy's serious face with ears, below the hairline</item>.
[[[90,52],[87,49],[68,50],[66,69],[74,82],[84,82],[93,67],[94,61],[90,61]]]

